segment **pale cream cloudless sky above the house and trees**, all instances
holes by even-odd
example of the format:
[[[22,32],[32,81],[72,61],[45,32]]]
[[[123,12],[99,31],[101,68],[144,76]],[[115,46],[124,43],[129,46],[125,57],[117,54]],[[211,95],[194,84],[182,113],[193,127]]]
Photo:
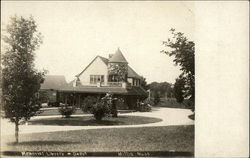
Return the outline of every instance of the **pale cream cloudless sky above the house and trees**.
[[[13,15],[32,15],[43,35],[35,65],[69,82],[97,55],[119,47],[129,65],[150,82],[174,83],[181,71],[160,53],[169,30],[194,40],[193,2],[1,1],[1,31]]]

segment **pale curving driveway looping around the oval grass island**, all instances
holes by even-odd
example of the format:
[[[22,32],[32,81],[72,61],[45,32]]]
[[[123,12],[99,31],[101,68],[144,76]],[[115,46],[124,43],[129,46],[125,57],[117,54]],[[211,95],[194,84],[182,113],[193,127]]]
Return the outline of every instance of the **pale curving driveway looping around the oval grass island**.
[[[117,125],[117,126],[50,126],[50,125],[20,125],[19,133],[42,133],[42,132],[56,132],[56,131],[68,131],[68,130],[82,130],[82,129],[100,129],[100,128],[133,128],[133,127],[154,127],[154,126],[173,126],[173,125],[193,125],[194,121],[189,119],[188,116],[192,114],[188,109],[175,109],[175,108],[163,108],[154,107],[152,112],[133,112],[119,115],[133,115],[133,116],[145,116],[155,117],[162,119],[161,122],[141,124],[141,125]],[[74,115],[83,116],[83,115]],[[56,116],[36,116],[32,119],[61,117]],[[14,135],[15,127],[13,123],[8,122],[6,119],[1,119],[1,136]]]

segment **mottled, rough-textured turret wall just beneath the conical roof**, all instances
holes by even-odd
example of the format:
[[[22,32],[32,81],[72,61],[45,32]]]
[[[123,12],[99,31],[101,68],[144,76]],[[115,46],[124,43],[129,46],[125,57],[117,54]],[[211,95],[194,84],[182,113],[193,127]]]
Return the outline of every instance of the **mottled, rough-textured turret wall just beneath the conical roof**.
[[[126,63],[109,63],[108,73],[117,75],[118,81],[126,81],[128,66]]]

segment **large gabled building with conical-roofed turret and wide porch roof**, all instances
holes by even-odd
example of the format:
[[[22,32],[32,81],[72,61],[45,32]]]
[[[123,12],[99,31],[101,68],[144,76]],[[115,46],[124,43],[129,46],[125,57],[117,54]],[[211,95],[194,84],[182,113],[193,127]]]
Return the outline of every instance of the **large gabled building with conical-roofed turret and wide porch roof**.
[[[117,103],[118,109],[133,109],[137,101],[147,97],[141,83],[142,76],[128,65],[118,48],[109,58],[96,56],[73,81],[58,88],[58,101],[80,105],[86,96],[102,97],[111,93],[123,100]]]

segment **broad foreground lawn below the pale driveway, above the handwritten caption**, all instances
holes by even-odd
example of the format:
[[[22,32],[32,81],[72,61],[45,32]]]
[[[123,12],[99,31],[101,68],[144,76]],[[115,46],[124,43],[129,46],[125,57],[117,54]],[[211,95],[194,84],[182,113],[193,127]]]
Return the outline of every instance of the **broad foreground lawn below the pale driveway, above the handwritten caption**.
[[[2,151],[188,151],[194,152],[194,126],[76,130],[5,137]]]

